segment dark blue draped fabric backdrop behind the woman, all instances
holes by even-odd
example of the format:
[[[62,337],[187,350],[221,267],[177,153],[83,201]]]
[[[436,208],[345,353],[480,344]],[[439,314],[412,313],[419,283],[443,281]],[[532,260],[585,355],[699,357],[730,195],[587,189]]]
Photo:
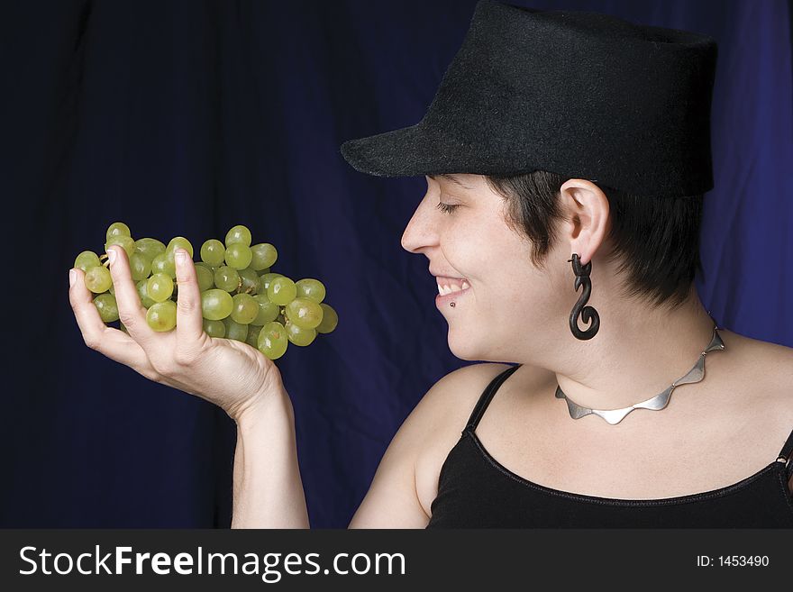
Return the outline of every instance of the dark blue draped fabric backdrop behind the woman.
[[[0,526],[230,524],[231,420],[88,351],[73,321],[67,270],[115,220],[194,244],[246,223],[278,246],[277,270],[324,279],[339,328],[278,366],[312,525],[349,522],[406,415],[465,362],[426,261],[399,244],[424,179],[365,177],[338,149],[422,117],[474,4],[3,5],[0,187],[14,257],[30,266],[17,281],[32,289],[4,307]],[[697,284],[727,328],[793,345],[789,3],[515,4],[716,38]]]

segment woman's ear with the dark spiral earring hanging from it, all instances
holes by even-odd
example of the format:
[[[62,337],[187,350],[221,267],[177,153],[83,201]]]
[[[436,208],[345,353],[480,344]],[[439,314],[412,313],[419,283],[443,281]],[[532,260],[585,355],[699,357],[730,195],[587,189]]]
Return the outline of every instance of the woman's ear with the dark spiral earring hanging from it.
[[[560,187],[560,207],[568,220],[561,238],[570,241],[570,255],[578,253],[586,265],[608,235],[608,198],[591,181],[571,178]]]

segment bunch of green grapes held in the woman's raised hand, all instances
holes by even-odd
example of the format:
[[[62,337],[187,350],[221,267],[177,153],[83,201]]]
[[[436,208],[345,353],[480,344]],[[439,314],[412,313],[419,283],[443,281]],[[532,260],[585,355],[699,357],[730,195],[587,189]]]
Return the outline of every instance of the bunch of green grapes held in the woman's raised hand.
[[[146,322],[154,331],[173,330],[178,297],[174,252],[184,249],[193,257],[193,245],[182,236],[168,245],[150,238],[135,241],[125,223],[111,224],[105,254],[99,257],[84,250],[74,265],[86,272],[86,287],[96,294],[94,305],[105,323],[118,321],[113,280],[103,263],[111,245],[119,245],[129,257],[132,279],[147,310]],[[199,255],[196,277],[204,331],[210,337],[248,343],[277,360],[290,342],[306,346],[318,333],[336,328],[339,316],[324,302],[323,283],[314,278],[293,281],[272,271],[278,251],[269,242],[251,246],[251,231],[245,226],[234,226],[224,242],[205,241]]]

